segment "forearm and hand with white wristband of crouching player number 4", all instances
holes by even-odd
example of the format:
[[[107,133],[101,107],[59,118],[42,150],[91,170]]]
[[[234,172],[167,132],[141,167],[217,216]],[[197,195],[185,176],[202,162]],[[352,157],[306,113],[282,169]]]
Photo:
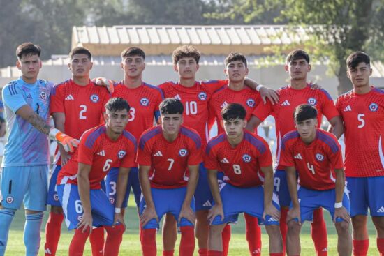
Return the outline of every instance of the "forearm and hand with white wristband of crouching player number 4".
[[[346,208],[340,203],[343,202],[344,197],[344,187],[345,187],[345,174],[344,169],[335,169],[334,172],[336,173],[336,182],[335,182],[335,194],[336,194],[336,200],[334,201],[334,218],[333,222],[336,221],[336,218],[342,218],[347,223],[350,223],[350,215]]]

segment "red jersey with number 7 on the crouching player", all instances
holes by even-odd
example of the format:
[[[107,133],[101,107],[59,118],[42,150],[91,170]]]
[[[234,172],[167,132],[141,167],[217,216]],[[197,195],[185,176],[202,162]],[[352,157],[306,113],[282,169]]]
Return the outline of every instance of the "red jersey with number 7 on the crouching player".
[[[149,179],[152,188],[186,186],[188,165],[201,162],[201,139],[195,130],[181,126],[173,142],[165,140],[161,126],[146,130],[140,137],[138,163],[151,167]]]

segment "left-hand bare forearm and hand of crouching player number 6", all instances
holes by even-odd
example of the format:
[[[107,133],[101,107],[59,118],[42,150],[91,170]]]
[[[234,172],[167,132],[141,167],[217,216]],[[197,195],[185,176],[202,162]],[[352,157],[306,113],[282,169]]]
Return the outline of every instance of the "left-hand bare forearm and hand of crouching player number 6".
[[[77,170],[77,186],[79,189],[80,200],[82,202],[82,220],[77,225],[77,228],[82,228],[85,232],[89,227],[89,233],[92,232],[92,213],[91,213],[91,199],[89,193],[91,191],[89,184],[89,172],[91,172],[91,165],[79,163]]]

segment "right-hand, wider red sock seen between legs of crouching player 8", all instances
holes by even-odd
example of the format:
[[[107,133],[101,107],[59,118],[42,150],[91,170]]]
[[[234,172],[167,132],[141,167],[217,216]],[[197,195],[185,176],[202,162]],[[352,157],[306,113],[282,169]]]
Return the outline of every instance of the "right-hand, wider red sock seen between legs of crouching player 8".
[[[244,213],[245,234],[250,255],[261,255],[261,229],[258,218]]]

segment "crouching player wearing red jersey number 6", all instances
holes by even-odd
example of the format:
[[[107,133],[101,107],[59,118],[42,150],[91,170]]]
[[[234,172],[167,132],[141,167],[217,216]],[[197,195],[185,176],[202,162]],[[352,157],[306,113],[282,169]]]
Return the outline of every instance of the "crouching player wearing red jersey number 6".
[[[71,256],[82,255],[92,227],[101,226],[108,234],[103,255],[119,254],[124,220],[101,190],[101,181],[112,166],[119,166],[124,172],[135,166],[136,140],[124,130],[129,109],[122,98],[108,100],[105,125],[82,135],[79,149],[57,176],[57,193],[66,225],[68,229],[76,229],[69,246]]]

